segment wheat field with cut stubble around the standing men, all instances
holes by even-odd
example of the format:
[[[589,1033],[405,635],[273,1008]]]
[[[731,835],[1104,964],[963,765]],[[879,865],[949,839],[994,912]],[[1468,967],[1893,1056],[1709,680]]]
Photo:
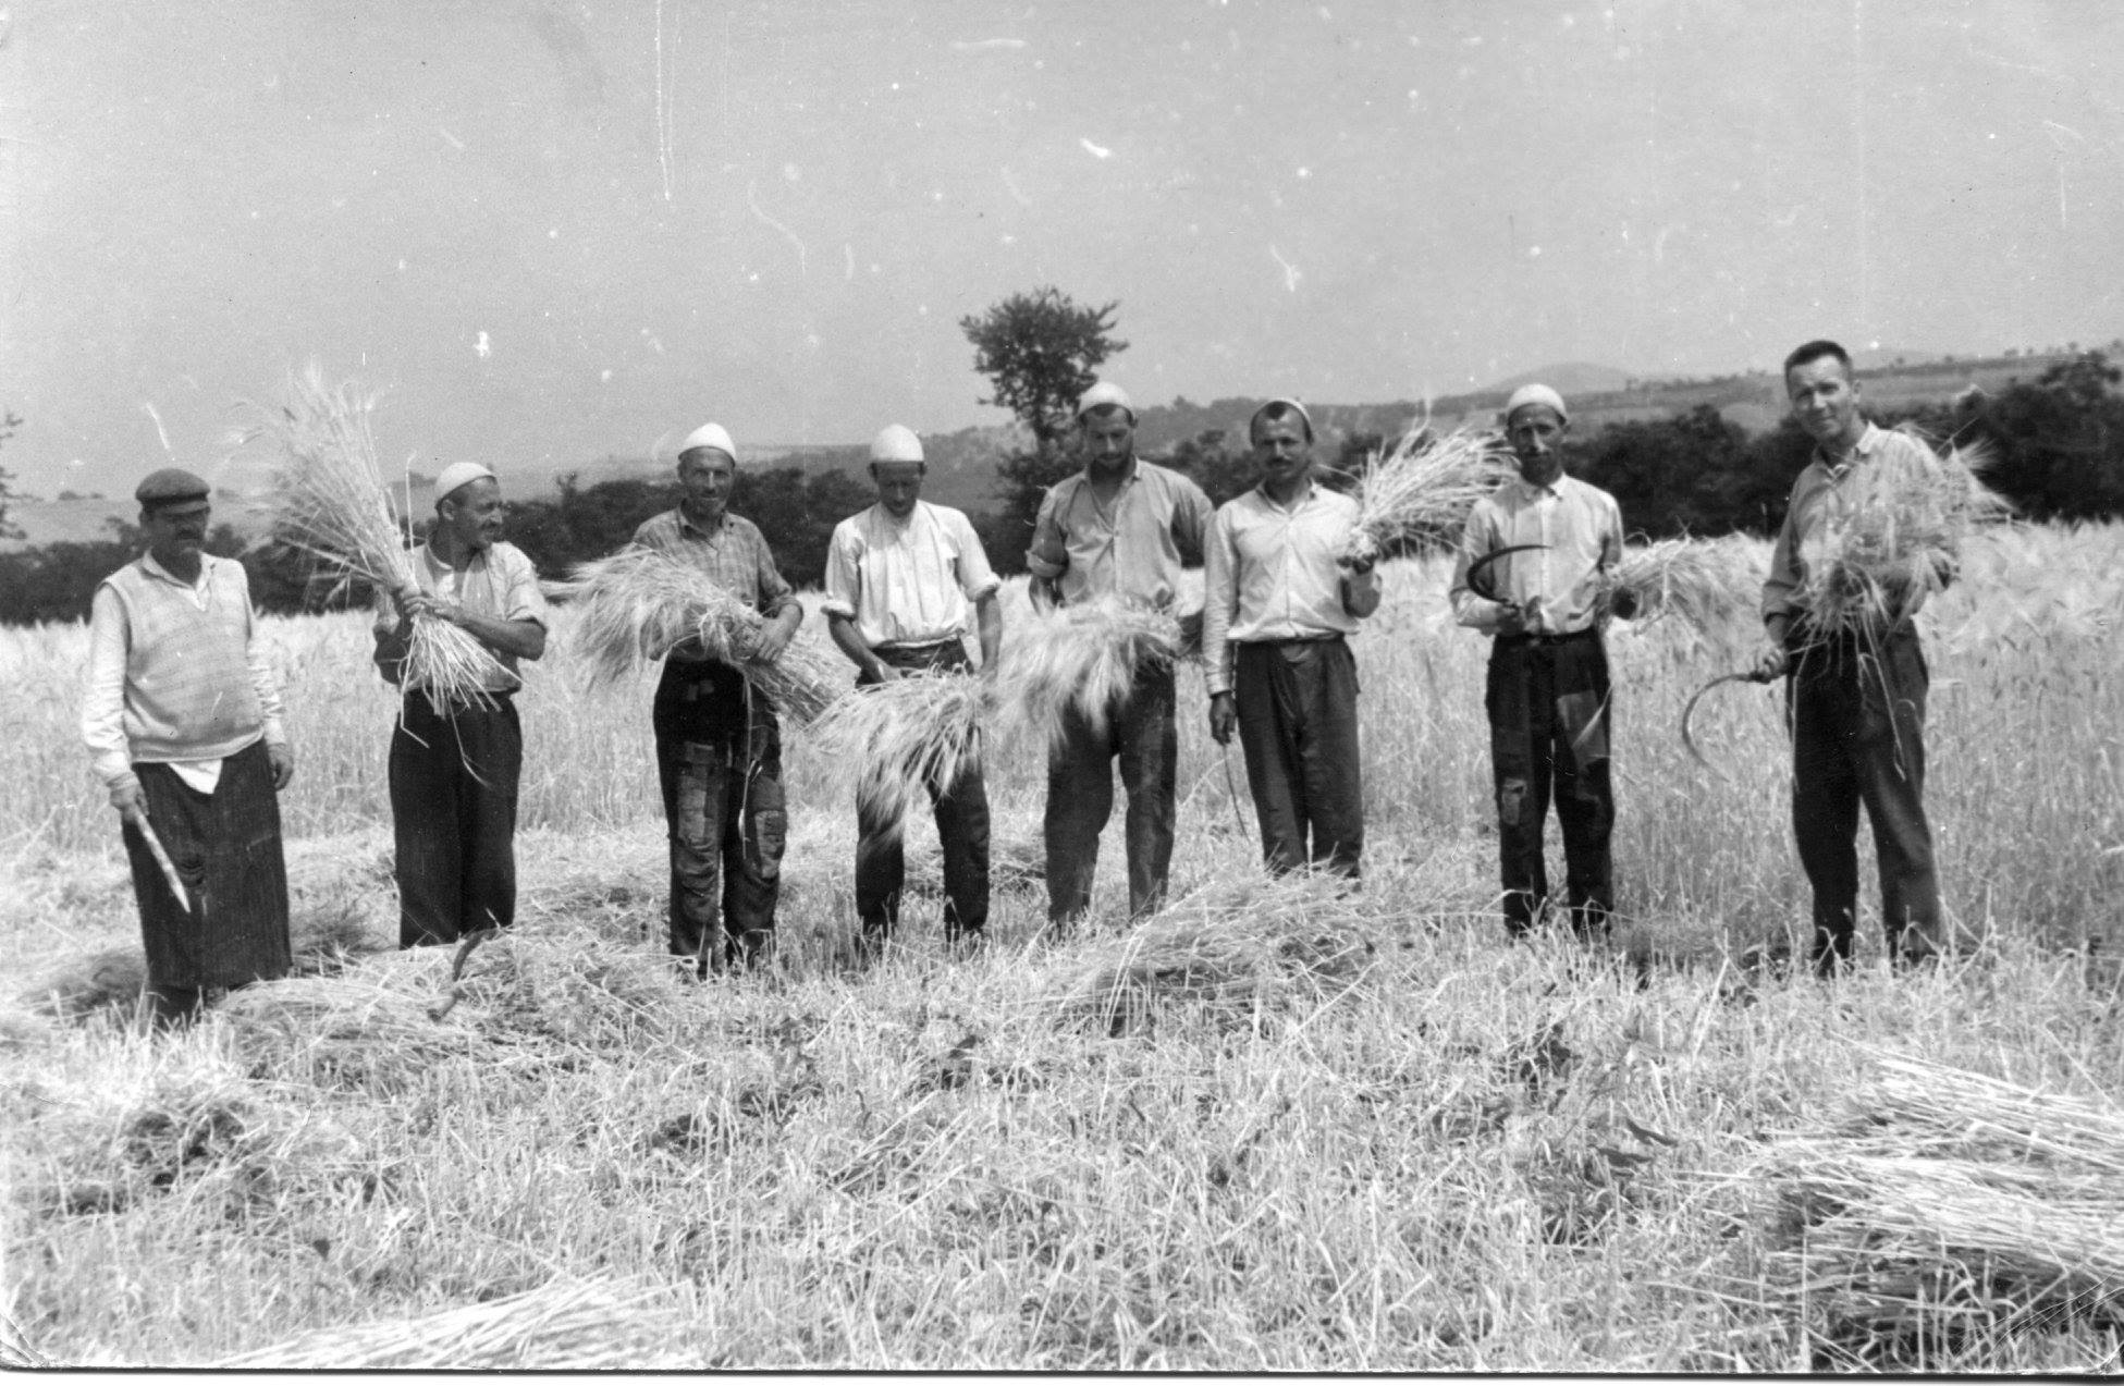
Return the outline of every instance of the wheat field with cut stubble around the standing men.
[[[918,814],[901,946],[858,969],[854,810],[792,733],[782,957],[705,984],[661,963],[646,684],[531,670],[518,929],[452,978],[389,950],[367,619],[270,621],[306,976],[147,1040],[108,1003],[138,923],[74,731],[85,633],[0,633],[0,1354],[2118,1371],[2113,1299],[2031,1318],[1929,1280],[1939,1305],[1865,1318],[1812,1292],[1765,1152],[1865,1118],[1897,1054],[2124,1101],[2120,544],[1986,536],[1924,612],[1965,952],[1890,976],[1869,916],[1837,984],[1776,965],[1805,925],[1776,693],[1706,699],[1712,770],[1678,740],[1750,629],[1614,631],[1616,950],[1506,946],[1485,642],[1442,563],[1398,561],[1357,640],[1361,895],[1260,878],[1183,670],[1164,916],[1121,927],[1115,825],[1094,925],[1039,942],[1041,753],[994,746],[992,946],[945,954]],[[1022,612],[1013,587],[1007,638]]]

